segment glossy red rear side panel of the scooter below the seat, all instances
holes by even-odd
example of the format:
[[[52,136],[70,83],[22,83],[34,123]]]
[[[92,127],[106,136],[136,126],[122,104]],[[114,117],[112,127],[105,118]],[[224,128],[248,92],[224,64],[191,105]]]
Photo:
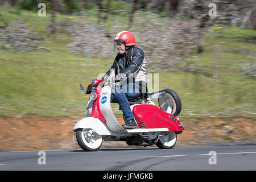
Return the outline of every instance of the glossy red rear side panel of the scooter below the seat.
[[[179,120],[159,107],[148,104],[133,107],[138,126],[145,129],[168,128],[169,131],[183,131]]]

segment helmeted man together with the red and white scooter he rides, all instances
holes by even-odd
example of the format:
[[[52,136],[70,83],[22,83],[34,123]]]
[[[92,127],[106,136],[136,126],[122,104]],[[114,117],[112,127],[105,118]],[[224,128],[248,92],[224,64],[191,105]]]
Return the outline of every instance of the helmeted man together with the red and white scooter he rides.
[[[76,135],[77,144],[85,151],[97,151],[103,140],[125,141],[130,146],[156,144],[159,148],[173,148],[176,135],[184,130],[176,118],[181,111],[180,97],[172,89],[147,93],[147,62],[142,49],[135,47],[133,34],[119,32],[114,45],[118,54],[104,77],[93,79],[86,90],[80,84],[82,94],[90,97],[86,117],[74,126],[73,140]],[[159,107],[152,100],[158,100]],[[117,102],[123,111],[122,127],[111,102]]]

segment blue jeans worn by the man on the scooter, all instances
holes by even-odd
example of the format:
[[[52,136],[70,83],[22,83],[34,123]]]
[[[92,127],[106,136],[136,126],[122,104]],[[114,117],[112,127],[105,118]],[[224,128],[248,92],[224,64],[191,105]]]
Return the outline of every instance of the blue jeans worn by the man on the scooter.
[[[114,86],[111,90],[110,102],[118,103],[125,116],[125,121],[129,121],[134,119],[134,115],[127,99],[136,98],[140,94],[141,92],[139,92],[139,86],[134,83]]]

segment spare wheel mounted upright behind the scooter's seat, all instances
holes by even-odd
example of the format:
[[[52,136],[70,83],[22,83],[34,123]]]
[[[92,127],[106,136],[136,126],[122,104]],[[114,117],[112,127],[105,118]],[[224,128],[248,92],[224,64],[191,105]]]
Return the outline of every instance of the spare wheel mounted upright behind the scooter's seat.
[[[160,109],[177,116],[181,112],[181,100],[179,95],[171,89],[164,89],[166,93],[158,99]]]

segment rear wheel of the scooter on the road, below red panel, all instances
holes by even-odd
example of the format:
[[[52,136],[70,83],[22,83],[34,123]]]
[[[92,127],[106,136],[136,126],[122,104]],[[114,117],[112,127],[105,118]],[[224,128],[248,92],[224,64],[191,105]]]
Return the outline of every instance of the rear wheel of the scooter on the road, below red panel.
[[[171,149],[175,146],[176,142],[177,135],[175,131],[160,132],[158,142],[156,142],[156,146],[161,149]]]

